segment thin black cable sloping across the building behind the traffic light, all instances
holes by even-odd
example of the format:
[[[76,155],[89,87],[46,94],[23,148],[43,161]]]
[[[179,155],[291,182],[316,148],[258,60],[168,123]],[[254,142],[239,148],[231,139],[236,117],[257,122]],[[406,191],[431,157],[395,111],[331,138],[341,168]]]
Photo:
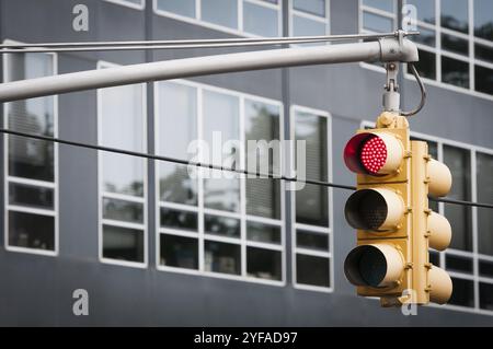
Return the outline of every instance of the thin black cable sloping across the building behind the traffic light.
[[[105,151],[105,152],[111,152],[111,153],[125,154],[125,155],[130,155],[130,156],[136,156],[136,158],[145,158],[145,159],[150,159],[150,160],[172,162],[172,163],[177,163],[177,164],[182,164],[182,165],[192,165],[192,166],[209,168],[209,170],[234,172],[234,173],[243,174],[246,176],[282,179],[282,181],[294,182],[294,183],[306,183],[306,184],[310,184],[310,185],[325,186],[325,187],[340,188],[340,189],[346,189],[346,190],[356,190],[355,186],[349,186],[349,185],[335,184],[335,183],[317,181],[317,179],[300,179],[297,177],[287,177],[287,176],[278,175],[275,173],[249,172],[246,170],[230,168],[230,167],[225,167],[225,166],[219,166],[219,165],[214,165],[214,164],[191,162],[187,160],[182,160],[182,159],[176,159],[176,158],[171,158],[171,156],[162,156],[162,155],[157,155],[157,154],[142,153],[142,152],[105,147],[105,146],[96,146],[96,144],[76,142],[76,141],[70,141],[70,140],[66,140],[66,139],[55,138],[55,137],[47,137],[47,136],[42,136],[42,135],[33,135],[33,133],[27,133],[27,132],[9,130],[5,128],[0,128],[0,133],[7,133],[7,135],[24,137],[24,138],[32,138],[32,139],[37,139],[37,140],[44,140],[44,141],[48,141],[48,142],[55,142],[55,143],[60,143],[60,144],[66,144],[66,146],[71,146],[71,147],[79,147],[79,148],[100,150],[100,151]],[[448,198],[435,198],[435,197],[428,197],[428,198],[433,201],[454,203],[454,205],[462,205],[462,206],[475,206],[475,207],[493,209],[493,205],[491,205],[491,203],[472,202],[472,201],[456,200],[456,199],[448,199]]]

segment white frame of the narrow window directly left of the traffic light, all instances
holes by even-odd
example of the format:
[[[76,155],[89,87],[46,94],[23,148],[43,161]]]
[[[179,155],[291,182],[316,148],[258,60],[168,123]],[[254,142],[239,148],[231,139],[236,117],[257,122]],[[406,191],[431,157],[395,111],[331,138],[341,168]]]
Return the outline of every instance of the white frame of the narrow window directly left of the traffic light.
[[[290,139],[296,139],[296,112],[302,112],[302,113],[309,113],[313,114],[316,116],[325,117],[326,119],[326,153],[329,155],[329,160],[326,163],[326,174],[328,174],[328,181],[332,183],[333,181],[333,174],[332,174],[332,114],[325,110],[316,109],[311,107],[301,106],[298,104],[291,104],[289,106],[289,125],[290,125]],[[295,154],[290,154],[289,156],[289,164],[290,164],[290,171],[294,171],[294,162],[295,162]],[[296,190],[291,190],[291,199],[290,199],[290,234],[291,234],[291,279],[293,279],[293,287],[295,289],[299,290],[307,290],[307,291],[317,291],[317,292],[325,292],[331,293],[334,292],[334,202],[333,202],[333,188],[328,187],[328,205],[329,205],[329,226],[319,226],[319,225],[311,225],[311,224],[305,224],[305,223],[297,223],[296,222]],[[313,233],[323,233],[326,234],[329,237],[329,251],[328,252],[318,252],[312,251],[309,248],[303,247],[297,247],[296,239],[297,233],[296,230],[300,229],[308,232]],[[296,271],[297,271],[297,255],[307,255],[307,256],[314,256],[314,257],[323,257],[329,260],[329,287],[324,286],[313,286],[313,284],[306,284],[306,283],[299,283],[296,278]]]

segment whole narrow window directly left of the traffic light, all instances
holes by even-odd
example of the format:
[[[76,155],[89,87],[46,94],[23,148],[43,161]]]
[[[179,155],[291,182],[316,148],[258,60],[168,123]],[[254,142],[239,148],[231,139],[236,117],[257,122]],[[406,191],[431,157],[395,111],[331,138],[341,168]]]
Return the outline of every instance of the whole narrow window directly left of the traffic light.
[[[306,141],[306,177],[330,181],[328,113],[293,106],[291,120],[291,139]],[[296,165],[301,165],[299,159],[296,159]],[[293,269],[297,287],[316,290],[332,288],[331,196],[330,188],[309,184],[291,191]]]

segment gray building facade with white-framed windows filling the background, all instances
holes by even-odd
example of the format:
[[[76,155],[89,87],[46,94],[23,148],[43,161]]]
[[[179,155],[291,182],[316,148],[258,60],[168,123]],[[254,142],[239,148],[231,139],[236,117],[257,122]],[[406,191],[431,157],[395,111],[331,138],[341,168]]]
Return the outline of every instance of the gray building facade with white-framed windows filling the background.
[[[89,10],[87,32],[73,28],[79,3]],[[0,0],[0,38],[378,33],[399,26],[404,4],[417,9],[417,68],[428,91],[424,110],[410,119],[412,136],[450,167],[450,198],[492,203],[489,0]],[[254,48],[3,54],[1,74],[14,81],[245,49]],[[1,113],[5,128],[181,160],[190,160],[192,141],[213,142],[218,131],[241,142],[301,139],[307,177],[353,185],[343,147],[372,126],[383,82],[376,63],[272,69],[32,98]],[[411,74],[401,95],[404,109],[419,102]],[[452,224],[450,248],[431,256],[452,277],[454,294],[448,305],[403,316],[356,296],[344,277],[356,239],[343,213],[348,190],[193,178],[176,163],[2,138],[0,325],[493,325],[489,209],[433,203]],[[231,152],[223,147],[225,156]],[[88,316],[72,312],[78,289],[89,293]]]

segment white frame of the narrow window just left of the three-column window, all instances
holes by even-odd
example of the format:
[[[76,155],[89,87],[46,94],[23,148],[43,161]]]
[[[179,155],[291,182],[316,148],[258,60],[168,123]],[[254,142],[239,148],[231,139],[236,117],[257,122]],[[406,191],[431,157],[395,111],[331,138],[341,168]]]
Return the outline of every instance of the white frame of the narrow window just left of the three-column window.
[[[119,67],[121,65],[105,61],[105,60],[98,60],[96,62],[96,69],[103,69],[103,68],[112,68],[112,67]],[[142,144],[144,144],[144,151],[147,152],[148,149],[148,115],[147,115],[147,84],[140,83],[137,85],[141,85],[142,89]],[[96,90],[96,118],[98,118],[98,143],[100,144],[103,140],[103,128],[102,128],[102,91],[103,89]],[[108,265],[116,265],[116,266],[124,266],[124,267],[134,267],[134,268],[140,268],[145,269],[149,265],[149,161],[147,159],[141,159],[144,161],[144,172],[142,172],[142,186],[144,186],[144,196],[142,198],[134,197],[130,195],[125,194],[117,194],[117,193],[108,193],[103,190],[103,156],[102,153],[104,151],[98,151],[98,259],[103,264]],[[129,156],[129,155],[128,155]],[[118,221],[118,220],[112,220],[112,219],[105,219],[103,218],[103,199],[119,199],[127,202],[133,203],[141,203],[142,205],[142,223],[131,223],[126,221]],[[108,224],[111,226],[115,228],[126,228],[126,229],[135,229],[141,231],[144,234],[144,261],[130,261],[130,260],[121,260],[121,259],[113,259],[107,258],[103,256],[103,225]]]

